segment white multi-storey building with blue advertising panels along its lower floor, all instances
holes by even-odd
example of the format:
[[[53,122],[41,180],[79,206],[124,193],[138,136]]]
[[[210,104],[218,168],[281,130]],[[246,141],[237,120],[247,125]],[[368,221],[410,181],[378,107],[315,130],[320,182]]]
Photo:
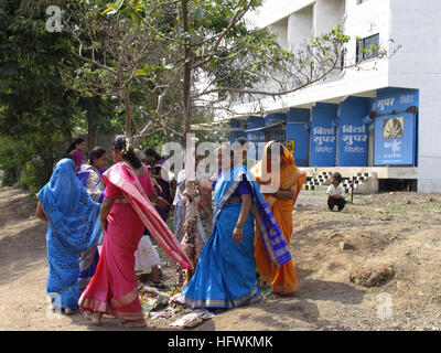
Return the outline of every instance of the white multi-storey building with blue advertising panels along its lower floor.
[[[251,20],[276,32],[284,47],[343,24],[353,38],[346,60],[356,57],[356,36],[358,45],[402,47],[363,64],[369,69],[346,69],[290,96],[263,99],[262,117],[255,117],[261,106],[236,106],[238,115],[228,118],[243,131],[232,132],[232,140],[245,135],[289,142],[306,173],[375,172],[441,192],[440,0],[266,0]]]

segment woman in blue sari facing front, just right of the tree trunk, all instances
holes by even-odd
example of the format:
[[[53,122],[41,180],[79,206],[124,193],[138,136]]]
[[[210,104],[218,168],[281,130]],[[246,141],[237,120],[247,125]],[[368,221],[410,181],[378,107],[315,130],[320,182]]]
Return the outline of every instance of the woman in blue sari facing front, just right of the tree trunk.
[[[281,266],[291,259],[283,234],[256,181],[245,167],[233,164],[233,150],[219,148],[217,160],[223,170],[215,181],[198,183],[201,189],[215,193],[213,231],[195,274],[175,297],[176,301],[194,309],[230,309],[260,299],[252,245],[255,220],[262,229],[273,263]]]

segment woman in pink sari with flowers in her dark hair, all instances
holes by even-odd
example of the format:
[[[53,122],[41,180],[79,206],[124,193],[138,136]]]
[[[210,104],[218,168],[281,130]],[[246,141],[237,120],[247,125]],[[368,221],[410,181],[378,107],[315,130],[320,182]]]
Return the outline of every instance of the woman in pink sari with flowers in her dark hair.
[[[144,227],[183,268],[192,268],[192,264],[150,202],[164,203],[125,136],[115,138],[112,157],[118,163],[103,174],[106,191],[99,217],[104,245],[95,276],[79,298],[79,308],[96,324],[107,313],[125,320],[123,328],[146,327],[135,275],[135,252]]]

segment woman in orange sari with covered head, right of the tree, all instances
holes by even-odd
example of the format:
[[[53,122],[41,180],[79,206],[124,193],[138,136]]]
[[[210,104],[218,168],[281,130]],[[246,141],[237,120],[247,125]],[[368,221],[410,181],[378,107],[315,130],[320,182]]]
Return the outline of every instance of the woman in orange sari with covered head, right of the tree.
[[[275,168],[272,172],[271,168]],[[304,173],[297,168],[289,150],[276,141],[265,146],[262,159],[251,169],[251,173],[289,245],[292,234],[292,210],[302,189]],[[293,261],[277,267],[268,257],[258,227],[255,227],[255,258],[261,281],[269,285],[273,293],[297,292],[299,284]]]

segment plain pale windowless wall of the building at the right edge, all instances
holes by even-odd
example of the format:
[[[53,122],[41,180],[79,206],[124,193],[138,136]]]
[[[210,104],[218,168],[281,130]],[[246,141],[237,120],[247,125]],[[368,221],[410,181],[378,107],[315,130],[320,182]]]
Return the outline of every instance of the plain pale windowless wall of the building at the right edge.
[[[441,191],[441,1],[390,0],[391,36],[402,49],[390,60],[389,85],[419,88],[418,190]]]

